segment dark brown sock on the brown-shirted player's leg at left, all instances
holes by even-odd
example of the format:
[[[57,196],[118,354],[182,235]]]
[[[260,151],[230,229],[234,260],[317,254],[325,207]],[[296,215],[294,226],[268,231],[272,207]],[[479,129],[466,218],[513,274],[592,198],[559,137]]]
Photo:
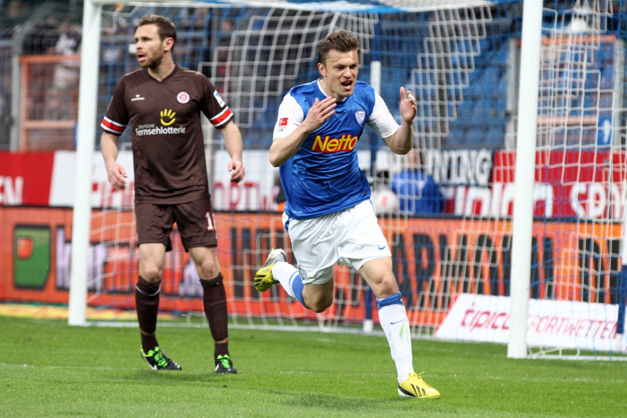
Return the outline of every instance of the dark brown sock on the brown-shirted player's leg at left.
[[[137,309],[137,322],[142,336],[142,348],[144,353],[158,345],[155,337],[157,330],[157,312],[159,311],[159,285],[147,282],[144,277],[139,276],[135,286],[135,308]]]

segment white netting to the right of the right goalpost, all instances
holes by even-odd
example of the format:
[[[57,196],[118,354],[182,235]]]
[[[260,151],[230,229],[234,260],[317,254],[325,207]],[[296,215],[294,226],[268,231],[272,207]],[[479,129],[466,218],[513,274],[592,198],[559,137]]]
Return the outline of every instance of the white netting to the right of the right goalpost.
[[[534,243],[534,355],[624,351],[616,335],[624,327],[624,46],[611,31],[611,4],[570,6],[549,14],[541,47],[536,171],[544,222]]]

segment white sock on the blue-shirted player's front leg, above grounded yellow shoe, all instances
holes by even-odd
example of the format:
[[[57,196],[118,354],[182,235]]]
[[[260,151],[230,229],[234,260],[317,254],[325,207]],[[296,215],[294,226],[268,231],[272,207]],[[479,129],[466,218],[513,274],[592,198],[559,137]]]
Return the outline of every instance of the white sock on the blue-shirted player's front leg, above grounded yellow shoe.
[[[393,304],[379,308],[379,322],[386,334],[392,360],[396,363],[398,382],[407,380],[407,375],[414,371],[411,354],[411,330],[405,306]]]

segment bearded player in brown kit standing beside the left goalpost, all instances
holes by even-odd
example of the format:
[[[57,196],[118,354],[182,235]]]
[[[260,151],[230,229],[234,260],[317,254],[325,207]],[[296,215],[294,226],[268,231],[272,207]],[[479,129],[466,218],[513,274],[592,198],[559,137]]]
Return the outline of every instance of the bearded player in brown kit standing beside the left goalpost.
[[[213,84],[172,58],[176,27],[171,19],[143,16],[135,31],[140,69],[120,78],[101,127],[108,181],[127,186],[117,162],[119,138],[132,127],[135,218],[139,278],[135,286],[141,355],[153,370],[181,370],[157,343],[157,310],[164,258],[171,250],[172,224],[196,264],[203,285],[203,307],[214,340],[215,370],[237,373],[228,351],[226,292],[216,255],[216,231],[209,195],[201,112],[219,129],[231,161],[231,182],[245,175],[242,139],[233,114]]]

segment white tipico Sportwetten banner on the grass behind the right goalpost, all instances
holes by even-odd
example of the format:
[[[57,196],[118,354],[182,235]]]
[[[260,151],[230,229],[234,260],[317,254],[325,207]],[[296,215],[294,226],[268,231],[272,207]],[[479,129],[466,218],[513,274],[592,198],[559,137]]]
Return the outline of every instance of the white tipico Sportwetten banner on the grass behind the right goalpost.
[[[530,346],[613,351],[618,306],[530,299]],[[507,343],[510,297],[460,294],[435,335],[446,340]],[[621,351],[627,351],[623,337]]]

